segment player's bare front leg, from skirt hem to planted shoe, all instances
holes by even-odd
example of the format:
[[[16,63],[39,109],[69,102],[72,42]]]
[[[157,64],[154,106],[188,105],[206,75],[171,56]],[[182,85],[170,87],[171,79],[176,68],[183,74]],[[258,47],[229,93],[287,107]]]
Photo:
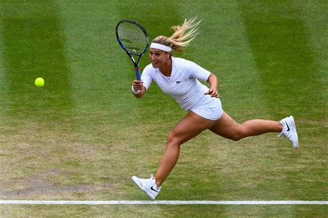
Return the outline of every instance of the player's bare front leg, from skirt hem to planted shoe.
[[[183,118],[176,127],[167,136],[167,145],[161,161],[161,165],[158,167],[158,171],[155,175],[156,185],[159,187],[166,179],[166,177],[172,171],[174,165],[178,161],[180,154],[180,145],[187,140],[194,138],[201,131],[215,125],[216,121],[208,120],[197,115],[197,113],[189,112],[185,118]]]

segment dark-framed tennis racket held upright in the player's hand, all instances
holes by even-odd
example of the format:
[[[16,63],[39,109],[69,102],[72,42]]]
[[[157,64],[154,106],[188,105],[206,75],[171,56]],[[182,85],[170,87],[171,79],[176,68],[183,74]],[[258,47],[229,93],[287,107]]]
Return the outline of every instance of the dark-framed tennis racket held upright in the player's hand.
[[[116,37],[121,48],[129,55],[132,62],[134,62],[136,80],[140,81],[139,63],[149,45],[149,39],[145,28],[134,20],[122,19],[116,25]],[[138,58],[137,61],[134,56]]]

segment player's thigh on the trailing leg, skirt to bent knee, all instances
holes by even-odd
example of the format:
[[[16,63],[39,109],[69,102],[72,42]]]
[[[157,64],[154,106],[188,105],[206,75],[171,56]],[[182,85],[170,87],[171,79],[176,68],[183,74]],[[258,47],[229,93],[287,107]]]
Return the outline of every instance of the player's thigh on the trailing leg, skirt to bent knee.
[[[210,131],[224,138],[234,138],[242,131],[242,125],[233,120],[228,113],[224,112],[215,125],[210,127]]]

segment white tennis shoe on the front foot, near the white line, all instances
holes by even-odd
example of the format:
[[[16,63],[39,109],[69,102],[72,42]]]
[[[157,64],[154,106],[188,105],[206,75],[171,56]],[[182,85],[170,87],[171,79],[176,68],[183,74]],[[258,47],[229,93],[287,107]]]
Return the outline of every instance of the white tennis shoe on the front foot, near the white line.
[[[156,198],[159,192],[161,192],[162,187],[157,187],[153,174],[150,175],[150,179],[139,179],[136,176],[132,176],[132,180],[153,200]]]

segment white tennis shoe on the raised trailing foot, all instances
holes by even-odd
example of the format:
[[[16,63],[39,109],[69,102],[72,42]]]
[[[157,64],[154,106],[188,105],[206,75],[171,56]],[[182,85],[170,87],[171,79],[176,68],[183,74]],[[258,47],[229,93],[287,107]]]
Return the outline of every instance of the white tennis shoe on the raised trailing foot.
[[[280,120],[282,124],[282,132],[278,134],[278,137],[286,136],[295,149],[298,148],[298,132],[296,131],[296,125],[293,116]]]

